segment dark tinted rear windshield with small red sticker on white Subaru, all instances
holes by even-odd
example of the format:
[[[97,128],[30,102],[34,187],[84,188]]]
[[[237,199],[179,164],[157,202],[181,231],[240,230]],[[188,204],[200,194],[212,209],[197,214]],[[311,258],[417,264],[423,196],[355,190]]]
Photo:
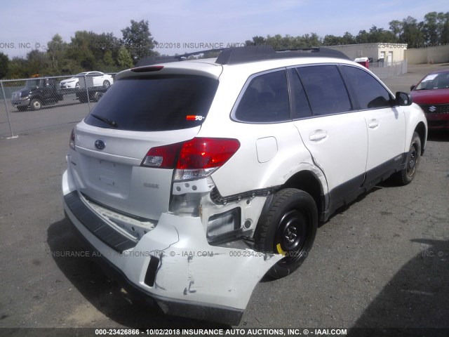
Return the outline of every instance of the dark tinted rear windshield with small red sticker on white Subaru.
[[[152,76],[116,81],[87,124],[128,131],[169,131],[199,126],[206,119],[217,79]]]

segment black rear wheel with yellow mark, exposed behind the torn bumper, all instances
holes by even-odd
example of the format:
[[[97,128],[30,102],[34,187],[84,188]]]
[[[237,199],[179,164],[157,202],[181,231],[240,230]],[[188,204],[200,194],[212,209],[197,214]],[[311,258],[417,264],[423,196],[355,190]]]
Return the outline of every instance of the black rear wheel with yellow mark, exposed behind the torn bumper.
[[[309,193],[294,188],[277,192],[255,232],[260,251],[285,256],[267,274],[280,279],[294,272],[307,258],[317,227],[318,211]]]

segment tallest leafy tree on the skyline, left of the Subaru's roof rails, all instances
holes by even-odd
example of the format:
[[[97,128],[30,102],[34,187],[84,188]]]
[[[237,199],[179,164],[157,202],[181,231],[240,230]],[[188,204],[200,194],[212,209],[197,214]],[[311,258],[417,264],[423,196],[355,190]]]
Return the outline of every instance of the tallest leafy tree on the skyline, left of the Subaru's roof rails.
[[[156,41],[149,32],[148,20],[140,22],[131,20],[130,27],[121,29],[121,33],[123,34],[121,43],[128,49],[134,63],[145,57],[159,55],[153,51]]]

